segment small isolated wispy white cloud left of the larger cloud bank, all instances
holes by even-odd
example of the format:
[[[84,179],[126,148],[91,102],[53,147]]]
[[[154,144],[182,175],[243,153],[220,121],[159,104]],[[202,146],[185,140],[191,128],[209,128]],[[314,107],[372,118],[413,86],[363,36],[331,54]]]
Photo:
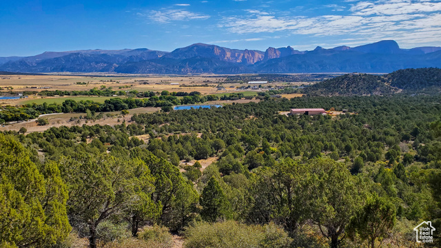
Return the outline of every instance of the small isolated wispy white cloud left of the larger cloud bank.
[[[138,15],[147,17],[158,23],[169,23],[171,21],[190,21],[209,19],[207,14],[199,14],[187,10],[152,10],[150,12],[138,12]]]

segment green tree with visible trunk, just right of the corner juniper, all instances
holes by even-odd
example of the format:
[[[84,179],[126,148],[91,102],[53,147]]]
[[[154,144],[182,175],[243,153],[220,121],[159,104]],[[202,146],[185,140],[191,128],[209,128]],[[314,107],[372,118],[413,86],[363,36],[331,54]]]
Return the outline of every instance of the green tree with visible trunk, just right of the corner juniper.
[[[71,225],[88,236],[91,248],[96,247],[99,224],[132,205],[136,163],[107,154],[63,158],[61,172],[70,189],[68,214],[74,216]]]

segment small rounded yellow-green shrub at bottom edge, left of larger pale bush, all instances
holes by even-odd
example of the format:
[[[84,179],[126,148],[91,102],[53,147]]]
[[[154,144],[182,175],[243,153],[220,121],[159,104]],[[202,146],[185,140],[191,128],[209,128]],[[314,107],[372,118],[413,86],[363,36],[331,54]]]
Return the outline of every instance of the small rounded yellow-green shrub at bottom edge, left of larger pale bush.
[[[139,234],[139,238],[152,244],[151,247],[169,248],[173,246],[172,234],[167,227],[154,225]],[[156,244],[156,245],[154,245]]]

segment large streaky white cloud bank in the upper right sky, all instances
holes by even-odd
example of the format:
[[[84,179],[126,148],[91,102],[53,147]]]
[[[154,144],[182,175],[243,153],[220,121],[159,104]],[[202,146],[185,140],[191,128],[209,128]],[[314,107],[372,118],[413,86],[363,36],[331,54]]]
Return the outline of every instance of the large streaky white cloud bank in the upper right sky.
[[[288,32],[309,37],[353,37],[352,43],[395,39],[402,45],[441,41],[441,2],[376,0],[352,2],[349,14],[292,16],[246,10],[245,16],[223,17],[218,23],[236,34]],[[332,4],[326,8],[338,8]],[[418,37],[418,39],[416,39]]]

